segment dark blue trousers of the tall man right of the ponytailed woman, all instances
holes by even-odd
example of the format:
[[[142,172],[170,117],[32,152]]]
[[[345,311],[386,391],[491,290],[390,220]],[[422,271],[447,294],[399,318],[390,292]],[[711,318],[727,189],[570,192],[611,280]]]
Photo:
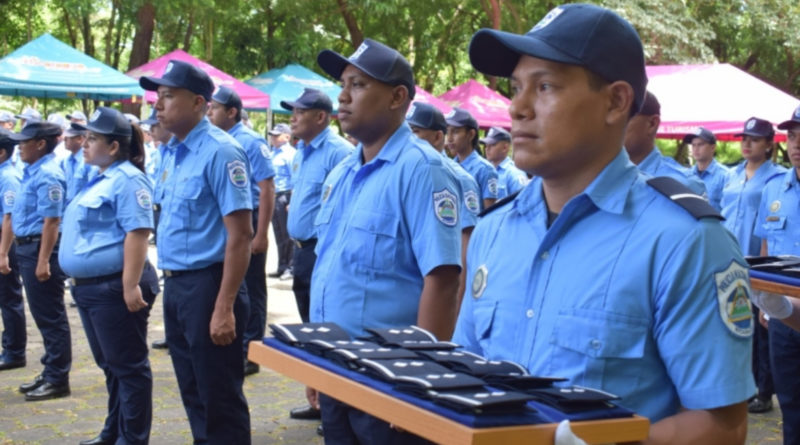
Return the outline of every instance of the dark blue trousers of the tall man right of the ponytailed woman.
[[[227,346],[212,343],[209,325],[221,280],[221,264],[164,280],[167,345],[194,443],[249,445],[242,391],[242,321],[249,303],[242,286],[233,306],[236,339]]]

